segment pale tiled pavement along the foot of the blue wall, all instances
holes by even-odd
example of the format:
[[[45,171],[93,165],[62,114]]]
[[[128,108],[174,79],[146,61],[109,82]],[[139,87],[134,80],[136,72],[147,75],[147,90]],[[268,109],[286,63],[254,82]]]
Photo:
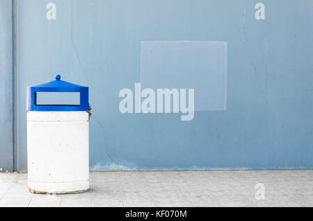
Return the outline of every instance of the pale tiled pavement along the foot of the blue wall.
[[[27,174],[0,173],[0,206],[313,206],[313,170],[96,172],[90,191],[68,195],[32,194]]]

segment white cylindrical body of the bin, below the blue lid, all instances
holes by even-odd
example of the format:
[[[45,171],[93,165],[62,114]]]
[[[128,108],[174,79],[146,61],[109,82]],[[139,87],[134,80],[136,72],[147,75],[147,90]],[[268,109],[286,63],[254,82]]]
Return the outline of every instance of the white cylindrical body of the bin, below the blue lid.
[[[32,193],[89,188],[88,112],[27,112],[27,160]]]

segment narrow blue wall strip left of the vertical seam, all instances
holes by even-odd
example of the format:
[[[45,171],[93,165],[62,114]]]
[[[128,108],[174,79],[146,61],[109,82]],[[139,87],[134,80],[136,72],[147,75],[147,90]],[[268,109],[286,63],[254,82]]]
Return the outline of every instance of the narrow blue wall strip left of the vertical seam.
[[[13,170],[12,1],[0,1],[0,171]]]

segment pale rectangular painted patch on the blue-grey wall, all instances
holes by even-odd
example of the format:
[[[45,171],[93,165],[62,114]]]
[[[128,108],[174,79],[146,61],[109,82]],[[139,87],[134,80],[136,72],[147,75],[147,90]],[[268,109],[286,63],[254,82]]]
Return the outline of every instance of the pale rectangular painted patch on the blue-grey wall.
[[[195,111],[224,110],[227,42],[141,42],[142,89],[194,89]]]

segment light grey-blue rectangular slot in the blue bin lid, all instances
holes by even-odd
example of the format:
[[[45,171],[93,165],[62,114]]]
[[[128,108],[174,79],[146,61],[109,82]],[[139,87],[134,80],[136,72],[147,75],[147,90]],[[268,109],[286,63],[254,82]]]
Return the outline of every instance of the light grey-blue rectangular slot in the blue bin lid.
[[[35,92],[35,105],[80,105],[80,92]]]

